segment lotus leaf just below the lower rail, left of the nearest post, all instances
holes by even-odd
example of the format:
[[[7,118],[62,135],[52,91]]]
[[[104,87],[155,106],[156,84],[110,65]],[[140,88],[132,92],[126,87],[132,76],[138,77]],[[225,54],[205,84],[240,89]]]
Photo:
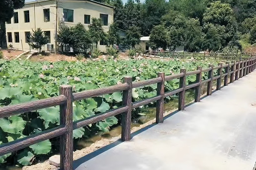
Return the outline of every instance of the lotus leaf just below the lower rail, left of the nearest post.
[[[38,142],[36,144],[32,144],[29,146],[33,152],[37,155],[39,154],[47,154],[51,151],[52,148],[52,144],[51,142],[48,140],[42,141],[42,142]]]

